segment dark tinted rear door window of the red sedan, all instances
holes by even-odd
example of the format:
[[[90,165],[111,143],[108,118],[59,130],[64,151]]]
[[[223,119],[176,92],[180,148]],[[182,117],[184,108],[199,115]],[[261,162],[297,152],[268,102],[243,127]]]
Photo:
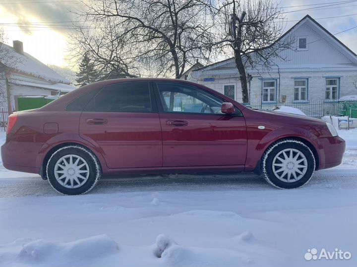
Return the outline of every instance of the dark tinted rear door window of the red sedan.
[[[109,85],[90,101],[85,111],[151,112],[148,82]]]

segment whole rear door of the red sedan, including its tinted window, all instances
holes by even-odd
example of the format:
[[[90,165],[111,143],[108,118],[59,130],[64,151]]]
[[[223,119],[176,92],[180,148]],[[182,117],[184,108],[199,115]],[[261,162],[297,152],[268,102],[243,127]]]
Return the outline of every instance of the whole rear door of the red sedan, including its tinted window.
[[[101,89],[82,112],[79,134],[99,146],[108,168],[162,166],[161,126],[151,82]]]

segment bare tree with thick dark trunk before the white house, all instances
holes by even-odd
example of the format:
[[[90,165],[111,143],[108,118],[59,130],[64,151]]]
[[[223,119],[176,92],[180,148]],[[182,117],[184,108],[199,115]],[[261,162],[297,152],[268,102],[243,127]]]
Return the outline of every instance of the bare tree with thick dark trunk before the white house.
[[[281,39],[284,31],[283,11],[271,0],[229,0],[221,4],[220,25],[224,27],[222,44],[233,48],[240,75],[243,103],[249,102],[246,67],[270,68],[274,58],[291,49],[294,39]],[[278,41],[278,42],[277,42]],[[225,45],[223,45],[224,47]]]

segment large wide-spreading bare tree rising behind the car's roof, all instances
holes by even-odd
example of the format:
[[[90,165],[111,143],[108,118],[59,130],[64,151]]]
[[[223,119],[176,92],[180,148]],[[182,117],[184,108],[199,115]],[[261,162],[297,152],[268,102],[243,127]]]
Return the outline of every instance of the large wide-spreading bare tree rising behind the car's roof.
[[[92,31],[80,27],[76,40],[108,66],[115,58],[128,74],[135,69],[138,75],[145,67],[156,76],[180,78],[187,65],[210,57],[216,37],[210,0],[91,0],[83,5],[78,14]]]

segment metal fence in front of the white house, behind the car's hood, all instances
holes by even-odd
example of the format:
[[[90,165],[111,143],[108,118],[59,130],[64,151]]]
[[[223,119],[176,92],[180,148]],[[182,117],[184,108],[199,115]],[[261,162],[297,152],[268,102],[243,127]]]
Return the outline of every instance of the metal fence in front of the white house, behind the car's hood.
[[[309,117],[321,118],[323,116],[339,116],[345,115],[354,117],[357,113],[357,101],[324,101],[324,100],[310,100],[308,102],[285,102],[283,103],[261,103],[251,102],[249,106],[253,109],[272,110],[277,106],[294,107],[301,110]]]

